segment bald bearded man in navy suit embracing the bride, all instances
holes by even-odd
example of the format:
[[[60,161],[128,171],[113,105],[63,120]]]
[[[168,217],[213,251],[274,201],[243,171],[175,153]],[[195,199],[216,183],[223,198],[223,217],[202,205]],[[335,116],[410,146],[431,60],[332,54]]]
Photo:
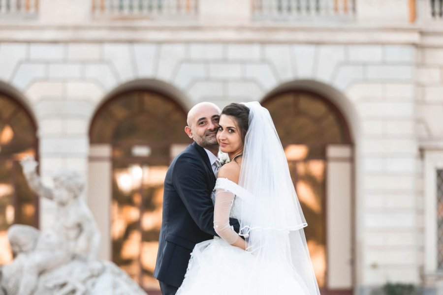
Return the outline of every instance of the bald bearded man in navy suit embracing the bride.
[[[163,295],[183,282],[195,244],[217,236],[211,192],[220,166],[216,135],[221,110],[202,102],[188,113],[186,134],[194,141],[171,163],[164,179],[163,220],[154,276]],[[239,231],[239,223],[230,220]]]

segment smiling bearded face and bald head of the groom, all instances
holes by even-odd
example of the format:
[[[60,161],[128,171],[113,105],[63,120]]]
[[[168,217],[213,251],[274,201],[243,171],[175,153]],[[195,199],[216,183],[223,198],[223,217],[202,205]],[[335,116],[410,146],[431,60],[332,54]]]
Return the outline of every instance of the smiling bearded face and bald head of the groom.
[[[199,106],[190,116],[186,133],[202,148],[218,147],[217,131],[219,128],[220,110],[213,105]]]

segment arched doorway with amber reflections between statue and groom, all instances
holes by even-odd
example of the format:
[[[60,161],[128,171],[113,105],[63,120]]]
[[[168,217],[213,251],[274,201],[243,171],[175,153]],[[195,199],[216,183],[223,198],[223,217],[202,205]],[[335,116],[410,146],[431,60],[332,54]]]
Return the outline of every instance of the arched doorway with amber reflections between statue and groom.
[[[90,159],[90,182],[96,187],[90,192],[97,192],[100,185],[109,184],[111,188],[111,203],[104,209],[109,211],[101,215],[110,220],[110,236],[103,235],[102,243],[110,243],[109,258],[145,290],[158,289],[152,275],[161,225],[163,180],[173,157],[190,143],[184,132],[186,117],[184,109],[165,95],[131,90],[103,104],[90,129],[91,152],[96,157]],[[101,164],[100,157],[94,155],[95,149],[109,151]],[[97,174],[102,177],[97,178]],[[97,198],[96,195],[106,193],[90,193],[89,198]],[[94,200],[88,203],[96,218],[100,210],[97,207],[106,204],[103,199],[95,205]],[[100,227],[99,220],[98,223]],[[106,233],[106,225],[101,229],[102,234]]]

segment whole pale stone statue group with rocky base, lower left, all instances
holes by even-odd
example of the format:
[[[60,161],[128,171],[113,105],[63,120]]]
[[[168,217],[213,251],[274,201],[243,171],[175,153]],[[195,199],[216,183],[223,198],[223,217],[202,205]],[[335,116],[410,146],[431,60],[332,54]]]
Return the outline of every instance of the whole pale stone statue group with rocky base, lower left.
[[[43,231],[26,225],[8,229],[15,259],[0,269],[0,295],[146,294],[119,267],[98,259],[100,234],[82,197],[82,177],[60,170],[50,189],[33,157],[21,164],[31,189],[57,205],[56,219]]]

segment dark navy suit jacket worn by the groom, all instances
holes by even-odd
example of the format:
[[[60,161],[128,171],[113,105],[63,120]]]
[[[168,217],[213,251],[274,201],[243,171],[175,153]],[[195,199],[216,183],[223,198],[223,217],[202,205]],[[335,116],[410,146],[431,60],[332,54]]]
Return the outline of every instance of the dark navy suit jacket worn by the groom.
[[[204,148],[195,142],[171,163],[164,180],[163,219],[154,277],[180,287],[195,244],[217,236],[211,192],[216,177]],[[230,220],[239,231],[236,219]]]

